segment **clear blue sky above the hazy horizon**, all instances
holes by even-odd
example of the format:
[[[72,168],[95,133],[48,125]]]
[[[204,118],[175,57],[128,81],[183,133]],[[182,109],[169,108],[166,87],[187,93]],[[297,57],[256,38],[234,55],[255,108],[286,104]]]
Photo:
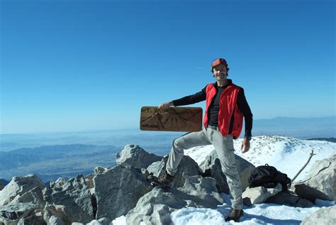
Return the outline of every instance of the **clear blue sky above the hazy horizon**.
[[[138,127],[215,57],[254,119],[335,116],[335,1],[0,4],[1,133]]]

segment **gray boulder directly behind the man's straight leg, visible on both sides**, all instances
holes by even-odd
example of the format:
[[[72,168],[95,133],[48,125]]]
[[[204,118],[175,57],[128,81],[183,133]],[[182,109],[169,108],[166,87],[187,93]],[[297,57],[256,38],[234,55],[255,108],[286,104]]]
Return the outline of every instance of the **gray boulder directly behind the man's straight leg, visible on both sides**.
[[[242,191],[244,191],[249,186],[248,178],[255,167],[252,163],[238,155],[235,155],[235,162],[242,182]],[[206,157],[206,160],[201,163],[200,168],[203,170],[205,176],[215,178],[218,192],[229,194],[228,182],[222,172],[222,166],[220,165],[220,160],[218,159],[215,150]]]

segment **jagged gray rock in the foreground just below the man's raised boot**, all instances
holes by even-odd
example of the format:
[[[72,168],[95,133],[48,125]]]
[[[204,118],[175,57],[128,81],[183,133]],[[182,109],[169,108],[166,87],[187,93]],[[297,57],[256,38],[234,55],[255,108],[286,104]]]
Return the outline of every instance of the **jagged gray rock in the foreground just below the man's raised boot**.
[[[215,208],[223,204],[223,198],[218,194],[215,180],[212,177],[183,174],[184,187],[177,187],[165,192],[155,187],[138,201],[134,209],[126,214],[128,224],[172,224],[170,214],[184,207]]]

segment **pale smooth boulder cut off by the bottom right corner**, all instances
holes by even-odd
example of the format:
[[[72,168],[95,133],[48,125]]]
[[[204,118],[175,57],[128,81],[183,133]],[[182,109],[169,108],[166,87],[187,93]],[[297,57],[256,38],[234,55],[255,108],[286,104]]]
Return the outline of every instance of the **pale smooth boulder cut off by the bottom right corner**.
[[[313,224],[336,224],[336,206],[318,209],[301,221],[301,225]]]

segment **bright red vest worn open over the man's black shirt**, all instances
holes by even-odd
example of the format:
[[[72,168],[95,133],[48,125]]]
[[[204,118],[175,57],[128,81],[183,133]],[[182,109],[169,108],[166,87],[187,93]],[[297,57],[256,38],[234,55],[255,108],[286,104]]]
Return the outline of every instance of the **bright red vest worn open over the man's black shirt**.
[[[230,84],[220,96],[220,110],[218,113],[218,127],[223,136],[227,136],[230,129],[230,121],[233,120],[232,136],[237,139],[242,132],[242,112],[237,107],[237,96],[241,87]],[[208,109],[215,97],[216,89],[213,84],[206,86],[206,114],[204,116],[204,127],[208,127]]]

